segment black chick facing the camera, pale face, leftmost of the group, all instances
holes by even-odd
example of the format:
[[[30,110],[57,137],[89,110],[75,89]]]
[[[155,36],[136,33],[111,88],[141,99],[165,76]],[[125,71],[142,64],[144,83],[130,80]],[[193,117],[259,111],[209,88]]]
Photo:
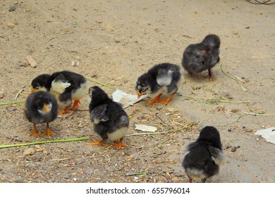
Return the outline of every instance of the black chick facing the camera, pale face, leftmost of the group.
[[[49,94],[46,91],[37,91],[35,93],[30,94],[27,97],[25,104],[25,117],[27,120],[33,123],[33,131],[30,135],[35,135],[39,138],[38,129],[36,127],[39,123],[47,123],[47,129],[42,134],[47,134],[49,138],[51,138],[51,134],[54,132],[49,128],[49,122],[52,122],[57,117],[57,101],[54,96]]]

